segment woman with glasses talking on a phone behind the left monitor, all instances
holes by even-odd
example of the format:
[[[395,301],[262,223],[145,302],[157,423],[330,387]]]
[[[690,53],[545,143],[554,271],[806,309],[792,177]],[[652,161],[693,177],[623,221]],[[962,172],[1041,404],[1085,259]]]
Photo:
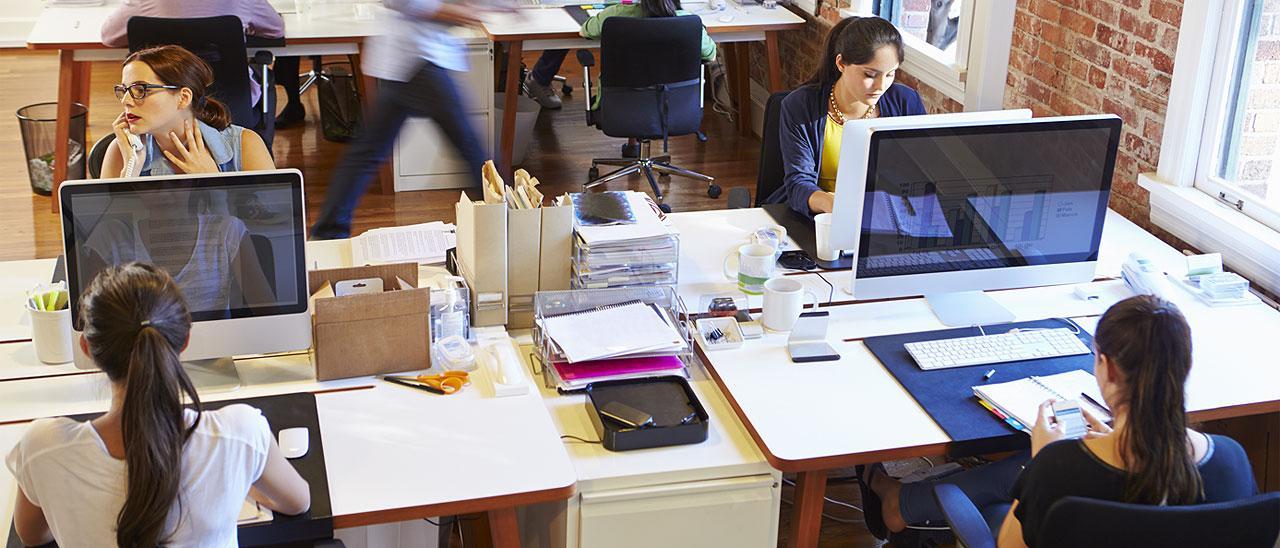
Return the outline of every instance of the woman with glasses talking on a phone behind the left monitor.
[[[214,72],[202,59],[159,46],[134,51],[123,67],[115,96],[124,111],[113,123],[104,177],[275,169],[262,138],[232,125],[227,106],[209,96]]]

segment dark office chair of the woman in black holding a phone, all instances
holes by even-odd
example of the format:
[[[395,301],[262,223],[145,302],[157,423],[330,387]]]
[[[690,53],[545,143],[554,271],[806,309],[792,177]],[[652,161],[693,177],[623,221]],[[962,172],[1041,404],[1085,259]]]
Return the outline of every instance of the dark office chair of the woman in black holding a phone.
[[[995,548],[991,528],[960,488],[940,484],[933,496],[960,543],[968,548]],[[1280,493],[1190,506],[1066,497],[1048,508],[1037,545],[1274,548],[1277,540]]]

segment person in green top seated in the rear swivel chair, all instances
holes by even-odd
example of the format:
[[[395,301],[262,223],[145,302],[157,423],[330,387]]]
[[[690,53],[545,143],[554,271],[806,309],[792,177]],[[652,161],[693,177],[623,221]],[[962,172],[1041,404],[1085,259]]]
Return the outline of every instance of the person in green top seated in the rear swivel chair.
[[[676,15],[691,15],[680,8],[680,0],[640,0],[639,3],[630,4],[614,4],[611,5],[600,13],[591,15],[590,19],[582,23],[582,28],[579,35],[589,40],[600,40],[600,31],[604,27],[604,19],[611,17],[676,17]],[[707,36],[707,28],[703,27],[703,61],[710,63],[716,59],[716,42],[712,41],[710,36]],[[543,55],[538,58],[538,63],[534,69],[530,70],[529,76],[525,78],[525,90],[529,91],[529,96],[536,100],[543,108],[547,109],[559,109],[561,100],[552,91],[550,83],[556,73],[559,72],[561,64],[564,63],[564,56],[568,55],[568,50],[547,50]],[[591,109],[599,104],[599,95],[593,100]]]

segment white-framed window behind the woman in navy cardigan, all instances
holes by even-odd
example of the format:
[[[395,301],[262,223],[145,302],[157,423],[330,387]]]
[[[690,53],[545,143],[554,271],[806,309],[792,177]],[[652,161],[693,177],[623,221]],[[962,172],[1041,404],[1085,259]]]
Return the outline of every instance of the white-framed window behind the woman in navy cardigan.
[[[888,19],[902,32],[904,72],[965,110],[998,110],[1005,101],[1014,12],[1012,1],[852,0],[841,15]]]

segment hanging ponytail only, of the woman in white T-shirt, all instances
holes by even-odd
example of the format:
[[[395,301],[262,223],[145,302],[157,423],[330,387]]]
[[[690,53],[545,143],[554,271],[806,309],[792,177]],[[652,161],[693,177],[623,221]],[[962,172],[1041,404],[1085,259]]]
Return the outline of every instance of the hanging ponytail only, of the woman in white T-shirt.
[[[120,430],[128,489],[116,517],[115,542],[122,547],[163,543],[169,515],[182,485],[182,448],[200,424],[186,426],[182,394],[198,406],[178,351],[151,325],[138,330],[129,356]]]

